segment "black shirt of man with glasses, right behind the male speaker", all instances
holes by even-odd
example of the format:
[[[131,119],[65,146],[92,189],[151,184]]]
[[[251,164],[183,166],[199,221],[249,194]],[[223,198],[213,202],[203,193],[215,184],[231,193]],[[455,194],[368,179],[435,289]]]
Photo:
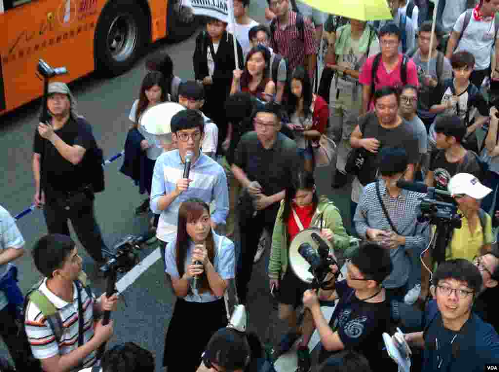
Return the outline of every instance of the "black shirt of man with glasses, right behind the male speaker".
[[[243,169],[250,181],[258,181],[263,194],[276,194],[291,184],[293,172],[301,166],[296,143],[282,133],[270,149],[264,148],[255,131],[241,137],[234,164]]]

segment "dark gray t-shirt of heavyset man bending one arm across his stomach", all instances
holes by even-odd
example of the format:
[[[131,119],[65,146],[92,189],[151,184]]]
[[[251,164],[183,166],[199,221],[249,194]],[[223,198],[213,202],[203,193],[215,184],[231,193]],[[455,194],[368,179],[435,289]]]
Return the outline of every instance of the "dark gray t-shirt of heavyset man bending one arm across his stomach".
[[[362,138],[376,138],[380,141],[379,150],[383,147],[403,147],[407,151],[409,164],[419,162],[419,141],[411,124],[402,119],[402,124],[396,128],[386,129],[378,122],[378,117],[373,111],[359,117],[357,120]],[[361,174],[358,178],[361,184],[367,185],[376,179],[379,166],[379,150],[377,154],[366,151],[368,156],[362,166]]]

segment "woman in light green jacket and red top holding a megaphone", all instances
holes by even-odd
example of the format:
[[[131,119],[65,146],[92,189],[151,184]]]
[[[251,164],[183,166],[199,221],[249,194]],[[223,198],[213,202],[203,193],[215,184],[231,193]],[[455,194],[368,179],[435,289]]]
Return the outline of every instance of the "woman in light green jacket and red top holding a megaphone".
[[[321,226],[321,223],[323,226]],[[284,335],[277,346],[275,355],[287,352],[294,342],[302,337],[298,348],[298,365],[310,368],[308,342],[313,332],[312,319],[305,316],[301,327],[297,323],[296,308],[301,304],[303,292],[309,286],[301,281],[289,267],[289,243],[304,229],[323,228],[322,238],[328,239],[339,251],[350,245],[338,208],[326,197],[317,197],[313,174],[298,170],[292,183],[286,188],[275,220],[272,246],[268,264],[270,290],[277,294],[279,319],[287,321],[290,331]],[[273,292],[275,291],[275,292]]]

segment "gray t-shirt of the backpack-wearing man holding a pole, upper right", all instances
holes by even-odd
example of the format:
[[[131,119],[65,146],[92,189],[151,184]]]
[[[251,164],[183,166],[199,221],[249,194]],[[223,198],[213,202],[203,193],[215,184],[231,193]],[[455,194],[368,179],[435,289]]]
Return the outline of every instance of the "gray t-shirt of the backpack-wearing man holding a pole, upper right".
[[[423,119],[435,118],[435,114],[430,113],[430,107],[432,106],[432,91],[434,88],[424,84],[424,77],[429,74],[432,77],[437,78],[439,82],[452,78],[451,63],[444,57],[442,74],[439,76],[439,74],[437,74],[437,57],[430,60],[430,70],[428,70],[428,62],[423,62],[421,60],[421,52],[419,49],[412,56],[412,60],[416,64],[419,79],[418,116]]]

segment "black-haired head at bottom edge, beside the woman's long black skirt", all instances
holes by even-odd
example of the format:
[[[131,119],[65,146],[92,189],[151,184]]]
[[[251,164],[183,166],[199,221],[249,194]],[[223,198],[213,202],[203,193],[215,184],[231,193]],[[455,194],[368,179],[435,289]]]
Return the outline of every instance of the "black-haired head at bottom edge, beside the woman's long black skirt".
[[[246,335],[233,328],[219,329],[208,342],[203,358],[228,371],[244,370],[250,359]]]

